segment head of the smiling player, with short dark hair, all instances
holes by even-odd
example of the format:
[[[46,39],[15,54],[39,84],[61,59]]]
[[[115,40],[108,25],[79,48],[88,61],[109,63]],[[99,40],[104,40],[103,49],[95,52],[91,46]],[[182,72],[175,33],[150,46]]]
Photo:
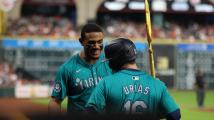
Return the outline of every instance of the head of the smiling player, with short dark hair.
[[[87,24],[82,28],[80,43],[84,47],[85,57],[87,59],[98,59],[103,49],[103,30],[97,24]]]

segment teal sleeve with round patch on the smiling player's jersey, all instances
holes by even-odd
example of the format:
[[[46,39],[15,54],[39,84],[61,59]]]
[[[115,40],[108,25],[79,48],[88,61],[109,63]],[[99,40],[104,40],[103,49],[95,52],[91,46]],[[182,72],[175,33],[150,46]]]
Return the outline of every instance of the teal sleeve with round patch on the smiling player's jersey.
[[[63,66],[61,66],[56,74],[54,87],[51,95],[52,97],[62,101],[67,96],[66,84],[68,77],[68,71]]]

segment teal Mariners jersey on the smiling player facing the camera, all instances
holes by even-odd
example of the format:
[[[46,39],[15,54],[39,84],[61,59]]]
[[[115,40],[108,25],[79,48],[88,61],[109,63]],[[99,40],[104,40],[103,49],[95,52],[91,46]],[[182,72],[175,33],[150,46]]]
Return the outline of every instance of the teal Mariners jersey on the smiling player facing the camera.
[[[83,111],[91,92],[111,69],[104,62],[104,55],[93,65],[83,61],[79,54],[60,66],[54,82],[52,96],[63,100],[68,97],[68,112]]]

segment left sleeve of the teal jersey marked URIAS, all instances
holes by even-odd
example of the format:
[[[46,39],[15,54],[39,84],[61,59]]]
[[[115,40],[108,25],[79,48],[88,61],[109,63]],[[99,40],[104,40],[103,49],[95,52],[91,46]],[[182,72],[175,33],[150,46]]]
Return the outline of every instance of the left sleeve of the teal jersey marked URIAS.
[[[105,80],[103,79],[92,92],[86,108],[93,108],[98,113],[104,112],[106,106],[105,93]]]

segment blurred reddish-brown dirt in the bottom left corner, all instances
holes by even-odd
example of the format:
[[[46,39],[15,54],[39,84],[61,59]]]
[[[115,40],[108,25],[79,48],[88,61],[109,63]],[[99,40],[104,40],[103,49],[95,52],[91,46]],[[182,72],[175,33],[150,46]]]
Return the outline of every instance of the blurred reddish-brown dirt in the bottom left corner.
[[[30,99],[0,98],[0,119],[29,120],[29,116],[47,113],[47,106],[32,103]]]

